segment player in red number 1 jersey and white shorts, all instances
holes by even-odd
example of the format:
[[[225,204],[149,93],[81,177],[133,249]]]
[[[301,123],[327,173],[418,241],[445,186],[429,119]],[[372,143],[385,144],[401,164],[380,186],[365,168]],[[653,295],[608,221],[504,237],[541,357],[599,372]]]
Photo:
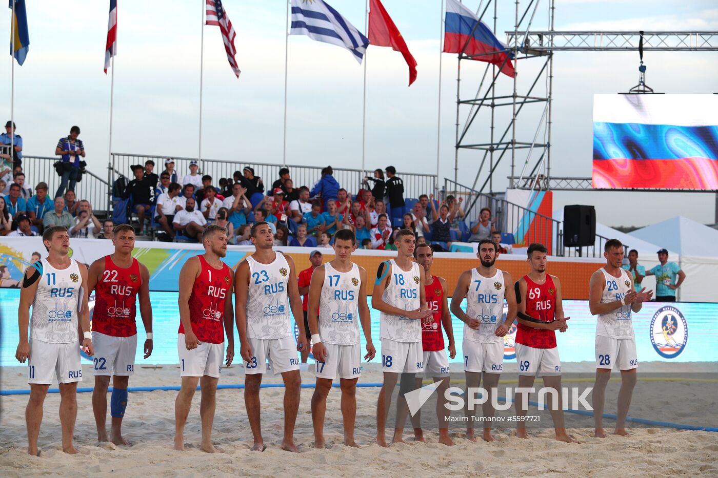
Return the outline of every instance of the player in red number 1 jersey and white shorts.
[[[227,255],[227,230],[210,225],[202,233],[205,253],[190,258],[180,271],[180,355],[182,388],[174,402],[174,449],[185,449],[185,423],[195,396],[197,383],[202,390],[200,417],[202,444],[208,453],[219,451],[212,444],[215,393],[222,371],[225,332],[229,367],[234,357],[234,273],[222,258]]]

